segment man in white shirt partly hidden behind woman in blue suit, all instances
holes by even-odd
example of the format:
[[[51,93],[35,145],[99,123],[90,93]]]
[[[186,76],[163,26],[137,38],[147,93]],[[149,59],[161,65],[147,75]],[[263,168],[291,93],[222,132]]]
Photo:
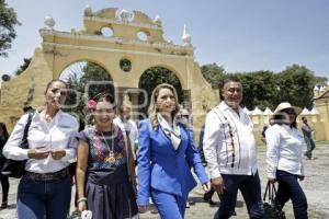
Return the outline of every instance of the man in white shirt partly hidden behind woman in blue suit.
[[[134,160],[136,161],[135,141],[138,138],[138,129],[135,122],[131,119],[131,106],[122,104],[118,107],[118,116],[114,118],[113,123],[126,132],[127,140],[129,140],[129,145],[132,147]]]

